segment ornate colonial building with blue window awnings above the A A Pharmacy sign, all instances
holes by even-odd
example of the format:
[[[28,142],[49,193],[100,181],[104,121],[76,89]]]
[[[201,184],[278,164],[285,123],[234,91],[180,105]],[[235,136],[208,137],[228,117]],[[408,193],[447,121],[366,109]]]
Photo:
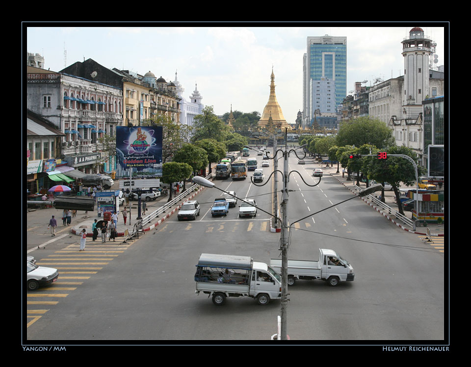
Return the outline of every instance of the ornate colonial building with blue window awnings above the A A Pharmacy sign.
[[[96,73],[96,72],[95,72]],[[60,156],[83,173],[113,172],[100,138],[122,124],[122,89],[61,72],[27,67],[27,107],[63,132]]]

